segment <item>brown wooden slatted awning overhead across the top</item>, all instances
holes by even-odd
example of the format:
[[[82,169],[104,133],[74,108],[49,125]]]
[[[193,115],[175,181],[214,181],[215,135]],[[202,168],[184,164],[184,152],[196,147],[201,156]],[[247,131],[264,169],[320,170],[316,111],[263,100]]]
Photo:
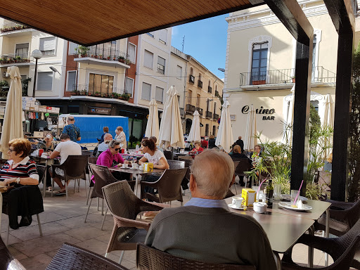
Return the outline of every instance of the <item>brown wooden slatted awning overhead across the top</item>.
[[[259,0],[3,0],[0,16],[90,46],[241,9]]]

